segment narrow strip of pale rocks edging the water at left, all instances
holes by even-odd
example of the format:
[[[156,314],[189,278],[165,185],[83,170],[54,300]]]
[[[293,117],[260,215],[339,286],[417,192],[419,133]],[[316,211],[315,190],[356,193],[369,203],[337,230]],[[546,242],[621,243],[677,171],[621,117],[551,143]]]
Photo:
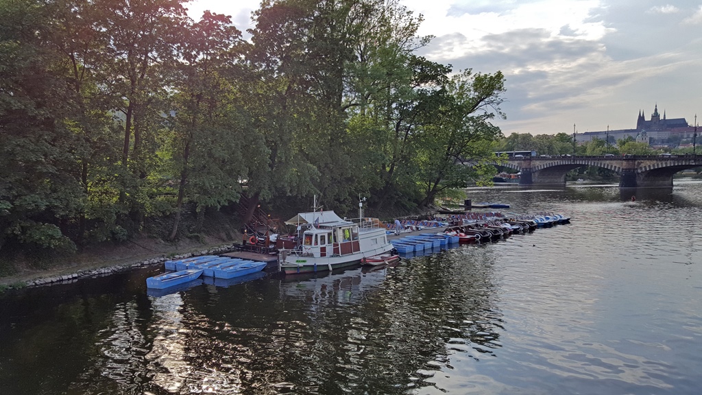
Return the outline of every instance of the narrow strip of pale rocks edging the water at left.
[[[101,268],[83,269],[83,270],[77,271],[76,273],[62,274],[62,275],[57,275],[57,276],[48,276],[48,277],[43,277],[43,278],[36,278],[34,280],[28,280],[28,281],[25,281],[25,286],[39,287],[41,285],[49,285],[49,284],[53,284],[53,283],[60,283],[63,281],[77,280],[79,278],[106,276],[106,275],[109,275],[112,273],[119,273],[121,271],[131,270],[133,268],[140,268],[140,267],[150,266],[150,265],[154,265],[154,264],[162,264],[164,261],[168,261],[171,259],[185,259],[185,258],[190,258],[190,257],[197,257],[199,255],[223,254],[225,252],[231,252],[232,250],[234,250],[234,245],[230,244],[230,245],[223,245],[220,247],[213,247],[213,248],[210,248],[207,250],[188,252],[185,254],[177,254],[177,255],[173,255],[173,257],[168,257],[168,258],[166,258],[165,256],[161,256],[161,257],[152,258],[152,259],[144,259],[144,260],[140,260],[140,261],[135,261],[135,262],[131,262],[128,264],[118,264],[118,265],[114,265],[114,266],[106,266],[106,267],[101,267]]]

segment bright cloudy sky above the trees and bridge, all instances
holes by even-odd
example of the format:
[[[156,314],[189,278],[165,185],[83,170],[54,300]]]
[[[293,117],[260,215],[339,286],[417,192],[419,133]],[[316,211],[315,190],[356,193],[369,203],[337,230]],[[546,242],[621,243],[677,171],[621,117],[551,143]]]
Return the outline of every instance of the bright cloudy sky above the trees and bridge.
[[[253,27],[258,0],[194,0]],[[635,129],[654,106],[702,121],[702,0],[400,0],[423,15],[418,55],[505,75],[503,134]],[[246,36],[248,37],[248,36]],[[575,127],[574,127],[575,125]]]

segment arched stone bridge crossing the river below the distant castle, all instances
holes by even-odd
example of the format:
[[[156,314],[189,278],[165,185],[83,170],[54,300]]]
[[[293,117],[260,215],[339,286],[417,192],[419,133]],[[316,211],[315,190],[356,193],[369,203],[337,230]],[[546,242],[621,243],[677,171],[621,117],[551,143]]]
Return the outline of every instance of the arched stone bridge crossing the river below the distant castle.
[[[702,155],[554,155],[515,157],[494,164],[521,171],[520,186],[564,186],[568,171],[596,166],[619,174],[619,188],[670,188],[673,187],[673,174],[702,167]]]

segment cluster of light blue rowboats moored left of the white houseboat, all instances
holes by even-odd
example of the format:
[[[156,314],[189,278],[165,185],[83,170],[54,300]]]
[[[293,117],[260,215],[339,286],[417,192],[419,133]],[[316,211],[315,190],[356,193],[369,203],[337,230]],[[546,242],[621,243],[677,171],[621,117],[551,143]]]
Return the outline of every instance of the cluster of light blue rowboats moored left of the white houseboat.
[[[202,255],[166,261],[165,266],[166,273],[146,279],[147,288],[163,290],[189,283],[201,276],[228,280],[262,271],[266,263],[216,255]]]

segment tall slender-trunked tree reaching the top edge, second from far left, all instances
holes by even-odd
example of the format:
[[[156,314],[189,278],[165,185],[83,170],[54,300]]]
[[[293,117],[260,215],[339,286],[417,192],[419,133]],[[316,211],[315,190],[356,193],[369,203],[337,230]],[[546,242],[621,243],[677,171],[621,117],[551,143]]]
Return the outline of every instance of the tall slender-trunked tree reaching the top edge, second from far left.
[[[138,229],[147,205],[147,179],[156,166],[156,133],[168,108],[164,65],[176,63],[185,25],[184,0],[97,0],[97,28],[108,35],[98,84],[119,112],[122,129],[119,202]]]

